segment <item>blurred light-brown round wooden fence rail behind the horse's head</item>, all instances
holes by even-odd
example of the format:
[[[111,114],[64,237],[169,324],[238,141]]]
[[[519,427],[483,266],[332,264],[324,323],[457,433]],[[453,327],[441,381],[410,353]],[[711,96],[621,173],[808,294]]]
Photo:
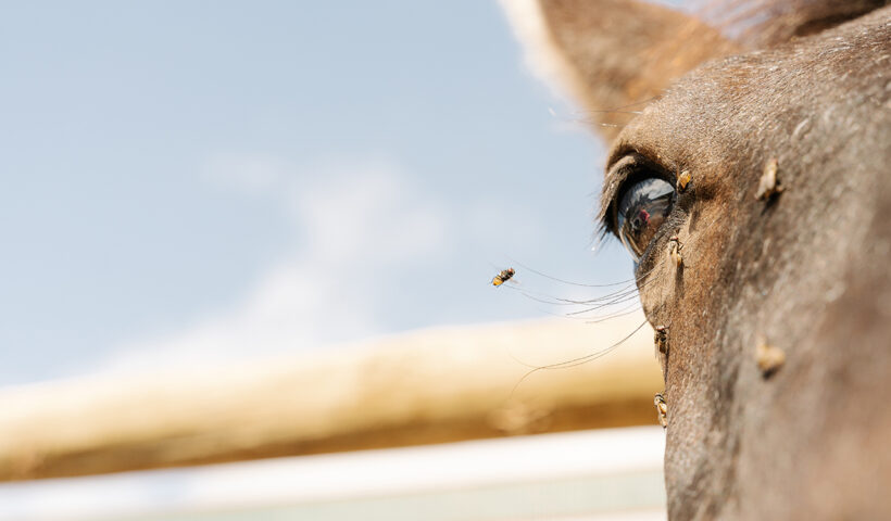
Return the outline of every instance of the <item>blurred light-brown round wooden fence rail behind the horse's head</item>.
[[[568,320],[441,328],[225,369],[0,391],[0,481],[655,423],[653,333]],[[526,378],[524,378],[526,376]]]

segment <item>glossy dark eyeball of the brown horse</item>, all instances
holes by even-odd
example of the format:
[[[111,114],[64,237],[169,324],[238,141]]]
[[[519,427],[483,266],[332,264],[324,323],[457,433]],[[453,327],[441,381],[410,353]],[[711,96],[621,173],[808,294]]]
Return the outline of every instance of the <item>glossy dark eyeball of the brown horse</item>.
[[[675,189],[657,178],[636,182],[618,203],[618,238],[638,260],[656,234],[668,212]]]

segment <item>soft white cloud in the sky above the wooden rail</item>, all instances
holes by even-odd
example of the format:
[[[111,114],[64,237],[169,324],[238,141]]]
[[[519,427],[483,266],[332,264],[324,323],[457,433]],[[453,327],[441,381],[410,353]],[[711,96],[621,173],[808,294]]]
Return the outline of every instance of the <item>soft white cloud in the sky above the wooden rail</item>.
[[[231,157],[230,157],[231,158]],[[206,179],[281,205],[305,243],[262,274],[240,302],[165,338],[114,350],[105,370],[213,364],[381,332],[384,266],[442,252],[447,213],[386,163],[294,168],[271,157],[210,162]]]

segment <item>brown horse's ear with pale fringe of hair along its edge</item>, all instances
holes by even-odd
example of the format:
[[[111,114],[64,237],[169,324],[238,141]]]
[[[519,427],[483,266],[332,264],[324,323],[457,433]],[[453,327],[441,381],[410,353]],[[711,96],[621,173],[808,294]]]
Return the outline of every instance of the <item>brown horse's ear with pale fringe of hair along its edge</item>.
[[[630,105],[738,46],[679,11],[637,0],[501,0],[532,72],[615,137]]]

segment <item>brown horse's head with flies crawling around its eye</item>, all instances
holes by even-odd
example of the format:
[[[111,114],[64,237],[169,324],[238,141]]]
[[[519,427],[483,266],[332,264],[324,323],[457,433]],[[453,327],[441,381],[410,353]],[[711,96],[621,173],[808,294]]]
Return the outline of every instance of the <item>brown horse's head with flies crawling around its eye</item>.
[[[502,3],[611,143],[670,518],[891,519],[886,0]]]

